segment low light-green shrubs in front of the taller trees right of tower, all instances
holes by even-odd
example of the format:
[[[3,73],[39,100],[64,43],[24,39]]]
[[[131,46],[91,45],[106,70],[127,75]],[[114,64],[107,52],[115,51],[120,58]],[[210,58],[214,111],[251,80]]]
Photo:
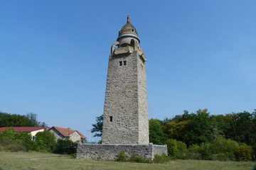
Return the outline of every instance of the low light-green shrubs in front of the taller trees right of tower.
[[[250,161],[254,155],[252,147],[245,143],[227,140],[222,136],[218,136],[213,142],[191,145],[188,148],[185,143],[177,140],[167,140],[166,145],[168,155],[172,159]]]

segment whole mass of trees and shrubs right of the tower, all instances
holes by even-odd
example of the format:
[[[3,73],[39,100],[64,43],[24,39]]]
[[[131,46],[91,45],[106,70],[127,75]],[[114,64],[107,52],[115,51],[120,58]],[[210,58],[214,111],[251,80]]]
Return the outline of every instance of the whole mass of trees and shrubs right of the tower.
[[[179,159],[245,160],[256,155],[256,110],[210,115],[207,109],[149,120],[149,141]]]

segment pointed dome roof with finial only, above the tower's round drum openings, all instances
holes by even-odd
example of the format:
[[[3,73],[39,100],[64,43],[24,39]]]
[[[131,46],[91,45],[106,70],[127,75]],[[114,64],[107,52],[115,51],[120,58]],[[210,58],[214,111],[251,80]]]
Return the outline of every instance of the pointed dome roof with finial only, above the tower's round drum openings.
[[[119,38],[122,38],[122,37],[134,37],[134,38],[137,38],[137,40],[139,40],[138,32],[136,28],[132,26],[131,18],[129,15],[127,16],[127,24],[125,24],[122,27],[122,29],[119,30],[119,35],[117,40],[119,40]]]

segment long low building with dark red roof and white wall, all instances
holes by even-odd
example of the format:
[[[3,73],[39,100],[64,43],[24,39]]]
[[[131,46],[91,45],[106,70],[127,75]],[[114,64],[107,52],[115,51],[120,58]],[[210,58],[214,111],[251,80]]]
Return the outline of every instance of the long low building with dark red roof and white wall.
[[[9,128],[13,128],[14,132],[28,132],[32,136],[32,140],[36,140],[36,134],[38,132],[46,130],[43,127],[3,127],[0,128],[0,131],[9,130]]]

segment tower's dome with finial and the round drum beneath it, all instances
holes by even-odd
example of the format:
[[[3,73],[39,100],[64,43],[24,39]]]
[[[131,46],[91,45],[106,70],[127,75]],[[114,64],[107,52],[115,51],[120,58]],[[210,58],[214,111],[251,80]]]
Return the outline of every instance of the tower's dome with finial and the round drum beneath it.
[[[139,35],[136,28],[131,24],[130,16],[127,16],[127,24],[119,31],[117,41],[121,47],[139,46]]]

